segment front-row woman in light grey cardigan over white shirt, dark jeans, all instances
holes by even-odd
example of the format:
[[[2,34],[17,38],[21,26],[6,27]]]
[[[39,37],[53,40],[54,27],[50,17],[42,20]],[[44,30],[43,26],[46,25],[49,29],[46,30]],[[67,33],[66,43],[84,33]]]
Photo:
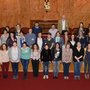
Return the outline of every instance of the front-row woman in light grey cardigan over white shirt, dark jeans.
[[[12,64],[13,79],[18,79],[18,64],[20,62],[20,49],[17,42],[13,42],[13,46],[9,48],[9,58]]]

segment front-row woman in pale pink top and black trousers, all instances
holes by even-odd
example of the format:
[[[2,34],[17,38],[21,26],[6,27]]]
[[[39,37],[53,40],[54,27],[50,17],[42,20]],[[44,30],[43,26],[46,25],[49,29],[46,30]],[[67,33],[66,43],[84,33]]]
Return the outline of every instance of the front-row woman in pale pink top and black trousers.
[[[33,44],[32,46],[31,60],[32,60],[33,76],[38,77],[40,50],[37,44]]]

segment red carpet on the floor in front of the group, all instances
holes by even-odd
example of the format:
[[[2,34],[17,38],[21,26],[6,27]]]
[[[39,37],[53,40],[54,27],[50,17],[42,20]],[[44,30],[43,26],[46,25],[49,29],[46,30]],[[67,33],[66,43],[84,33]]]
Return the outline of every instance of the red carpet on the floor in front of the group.
[[[42,79],[42,73],[38,78],[29,73],[28,80],[22,80],[22,75],[19,73],[19,79],[13,80],[11,73],[8,79],[3,79],[0,73],[0,90],[90,90],[90,80],[85,80],[83,74],[79,81],[73,79],[73,74],[70,74],[69,80],[64,80],[63,74],[58,79],[53,79],[50,74],[48,80]]]

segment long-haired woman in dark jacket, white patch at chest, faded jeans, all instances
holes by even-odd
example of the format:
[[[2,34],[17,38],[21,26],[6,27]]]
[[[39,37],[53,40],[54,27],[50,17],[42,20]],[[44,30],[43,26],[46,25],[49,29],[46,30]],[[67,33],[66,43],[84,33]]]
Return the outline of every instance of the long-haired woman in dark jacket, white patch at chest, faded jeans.
[[[58,78],[59,65],[61,60],[62,60],[62,50],[60,48],[60,44],[56,43],[55,49],[54,49],[54,59],[53,59],[53,74],[54,74],[53,78],[54,79]]]

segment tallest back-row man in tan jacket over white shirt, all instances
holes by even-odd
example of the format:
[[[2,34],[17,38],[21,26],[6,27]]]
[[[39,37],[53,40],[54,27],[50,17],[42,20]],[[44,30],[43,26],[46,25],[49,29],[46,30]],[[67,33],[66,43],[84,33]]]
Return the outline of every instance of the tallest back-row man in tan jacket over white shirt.
[[[64,34],[66,31],[68,31],[68,22],[65,18],[65,15],[62,16],[62,19],[58,21],[58,30],[60,33]]]

